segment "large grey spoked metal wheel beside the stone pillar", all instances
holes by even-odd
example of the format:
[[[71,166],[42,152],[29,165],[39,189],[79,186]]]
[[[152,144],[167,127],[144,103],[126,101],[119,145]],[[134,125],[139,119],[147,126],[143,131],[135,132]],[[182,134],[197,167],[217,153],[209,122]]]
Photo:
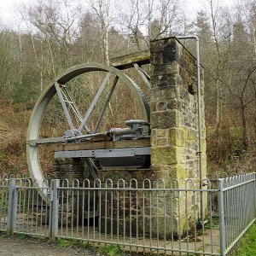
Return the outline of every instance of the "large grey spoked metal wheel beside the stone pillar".
[[[114,96],[115,91],[122,96]],[[124,101],[127,94],[131,96],[130,102]],[[118,102],[116,105],[119,106],[115,107],[118,117],[112,113],[112,101]],[[46,170],[41,155],[50,145],[81,143],[102,135],[106,126],[123,122],[120,119],[127,109],[135,115],[130,119],[149,121],[149,106],[142,90],[115,67],[83,64],[58,76],[38,98],[28,126],[27,163],[34,184],[39,188],[44,186]],[[109,119],[112,121],[108,122]],[[90,171],[96,178],[96,166],[90,159],[89,163]]]

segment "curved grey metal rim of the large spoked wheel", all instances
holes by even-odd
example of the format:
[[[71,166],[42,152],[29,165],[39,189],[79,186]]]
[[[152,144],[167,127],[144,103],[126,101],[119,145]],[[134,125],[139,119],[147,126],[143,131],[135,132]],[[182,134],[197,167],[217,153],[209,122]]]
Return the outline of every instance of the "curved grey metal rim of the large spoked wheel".
[[[130,78],[128,78],[124,73],[119,71],[119,69],[114,67],[109,67],[106,65],[102,65],[99,63],[90,63],[90,64],[82,64],[68,69],[65,73],[61,73],[55,81],[60,84],[66,84],[73,78],[78,77],[80,74],[88,73],[90,71],[103,71],[103,72],[111,72],[115,76],[122,79],[122,81],[129,87],[132,91],[133,95],[136,97],[139,108],[141,109],[141,113],[143,115],[143,119],[149,121],[149,105],[148,102],[143,95],[142,90],[135,84]],[[27,165],[30,172],[30,176],[32,177],[32,181],[35,186],[38,188],[44,188],[44,174],[42,172],[42,168],[40,165],[39,157],[38,157],[38,145],[32,145],[29,143],[31,140],[36,140],[39,138],[40,125],[42,121],[42,117],[45,109],[47,108],[49,102],[52,100],[53,96],[55,96],[55,83],[49,84],[49,86],[43,91],[42,95],[38,98],[38,102],[33,108],[31,119],[28,125],[27,130],[27,144],[26,144],[26,159]],[[45,195],[45,189],[40,189],[43,191],[42,196]]]

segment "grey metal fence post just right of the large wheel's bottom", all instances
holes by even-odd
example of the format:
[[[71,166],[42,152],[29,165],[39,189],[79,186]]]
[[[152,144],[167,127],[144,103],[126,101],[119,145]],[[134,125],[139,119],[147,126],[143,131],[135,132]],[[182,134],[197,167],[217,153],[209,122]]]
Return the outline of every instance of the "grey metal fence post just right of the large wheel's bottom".
[[[59,196],[58,188],[60,187],[60,180],[54,179],[51,183],[50,189],[50,211],[49,211],[49,238],[55,241],[58,234],[58,220],[59,220]]]

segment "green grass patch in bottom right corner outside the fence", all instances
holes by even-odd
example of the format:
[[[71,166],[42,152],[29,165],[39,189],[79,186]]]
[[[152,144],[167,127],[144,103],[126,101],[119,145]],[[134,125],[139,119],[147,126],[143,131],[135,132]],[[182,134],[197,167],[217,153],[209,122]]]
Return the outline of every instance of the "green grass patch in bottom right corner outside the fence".
[[[253,256],[256,255],[256,224],[254,223],[249,230],[242,236],[236,251],[231,256]]]

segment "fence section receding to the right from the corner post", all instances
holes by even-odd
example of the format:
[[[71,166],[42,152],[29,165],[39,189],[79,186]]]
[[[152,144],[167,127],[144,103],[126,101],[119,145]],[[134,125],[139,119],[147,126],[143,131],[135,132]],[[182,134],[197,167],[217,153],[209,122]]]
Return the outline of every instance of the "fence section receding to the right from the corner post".
[[[222,214],[223,251],[229,253],[256,218],[255,174],[227,177],[218,184]],[[221,199],[221,198],[220,198]]]

